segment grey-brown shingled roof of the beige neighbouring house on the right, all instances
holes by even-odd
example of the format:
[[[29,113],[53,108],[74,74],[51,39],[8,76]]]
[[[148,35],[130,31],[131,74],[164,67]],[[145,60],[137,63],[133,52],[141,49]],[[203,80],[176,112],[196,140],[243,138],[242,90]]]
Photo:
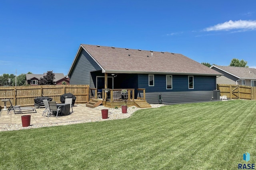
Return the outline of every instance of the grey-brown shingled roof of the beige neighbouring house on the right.
[[[246,67],[235,67],[235,66],[218,66],[213,65],[210,68],[215,67],[222,70],[232,76],[240,79],[256,79],[256,69]]]

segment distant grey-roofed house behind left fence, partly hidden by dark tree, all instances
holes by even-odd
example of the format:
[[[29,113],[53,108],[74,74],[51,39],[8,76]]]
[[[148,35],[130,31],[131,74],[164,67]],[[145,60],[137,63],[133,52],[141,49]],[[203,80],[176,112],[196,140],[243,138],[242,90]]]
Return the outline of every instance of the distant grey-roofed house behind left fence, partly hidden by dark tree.
[[[62,82],[66,82],[66,84],[69,84],[69,78],[67,76],[64,76],[63,73],[54,73],[55,74],[55,79],[54,82],[56,84],[62,84]],[[38,85],[38,80],[43,76],[45,76],[46,73],[44,74],[26,74],[26,84],[30,85]]]

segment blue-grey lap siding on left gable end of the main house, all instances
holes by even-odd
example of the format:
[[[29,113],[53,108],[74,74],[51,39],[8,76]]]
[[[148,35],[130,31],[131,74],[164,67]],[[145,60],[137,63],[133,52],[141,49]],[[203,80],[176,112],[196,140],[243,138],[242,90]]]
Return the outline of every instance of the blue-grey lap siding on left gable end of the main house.
[[[100,66],[82,50],[70,74],[70,84],[90,84],[90,72],[96,70],[101,70]]]

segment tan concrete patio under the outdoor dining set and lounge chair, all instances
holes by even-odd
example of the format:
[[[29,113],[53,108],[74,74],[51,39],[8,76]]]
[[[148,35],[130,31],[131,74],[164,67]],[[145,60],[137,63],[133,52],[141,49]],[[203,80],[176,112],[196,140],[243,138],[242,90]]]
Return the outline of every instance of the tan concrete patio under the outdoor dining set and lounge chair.
[[[42,113],[44,111],[44,107],[36,109],[37,113],[31,112],[23,112],[23,113],[16,113],[14,114],[13,111],[10,111],[7,114],[7,110],[0,111],[0,124],[22,124],[21,116],[22,115],[31,115],[31,125],[36,124],[46,124],[46,123],[66,123],[66,122],[74,122],[74,121],[84,121],[90,120],[95,118],[101,118],[101,110],[85,107],[85,106],[73,106],[73,113],[72,109],[70,108],[70,115],[66,116],[58,116],[56,118],[49,116],[44,117]]]

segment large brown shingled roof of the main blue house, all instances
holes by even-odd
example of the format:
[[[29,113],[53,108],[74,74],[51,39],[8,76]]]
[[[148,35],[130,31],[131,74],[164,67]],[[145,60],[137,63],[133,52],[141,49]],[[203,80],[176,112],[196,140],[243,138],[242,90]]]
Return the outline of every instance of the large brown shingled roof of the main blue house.
[[[106,73],[222,75],[182,54],[81,44],[70,67],[84,49]]]

